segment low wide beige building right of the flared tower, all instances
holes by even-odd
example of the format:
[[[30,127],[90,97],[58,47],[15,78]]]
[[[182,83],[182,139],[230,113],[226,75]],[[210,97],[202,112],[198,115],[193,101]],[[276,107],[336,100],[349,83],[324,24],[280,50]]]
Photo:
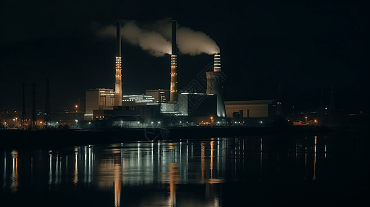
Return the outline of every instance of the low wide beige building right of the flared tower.
[[[270,126],[277,107],[275,100],[225,101],[225,110],[234,126]]]

